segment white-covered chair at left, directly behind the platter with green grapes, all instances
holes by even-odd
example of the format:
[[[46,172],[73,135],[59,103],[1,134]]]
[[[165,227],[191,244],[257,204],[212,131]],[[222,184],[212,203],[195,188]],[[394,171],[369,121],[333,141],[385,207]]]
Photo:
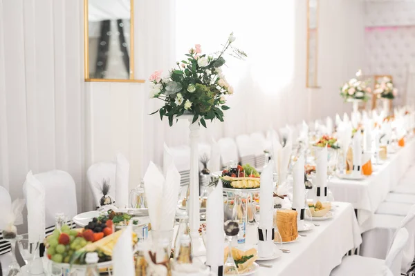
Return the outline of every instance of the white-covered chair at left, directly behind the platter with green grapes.
[[[68,172],[63,170],[50,170],[48,172],[33,175],[45,188],[45,226],[46,236],[55,230],[55,217],[57,213],[63,213],[68,219],[71,228],[77,215],[76,186],[75,181]],[[23,185],[25,199],[26,181]]]

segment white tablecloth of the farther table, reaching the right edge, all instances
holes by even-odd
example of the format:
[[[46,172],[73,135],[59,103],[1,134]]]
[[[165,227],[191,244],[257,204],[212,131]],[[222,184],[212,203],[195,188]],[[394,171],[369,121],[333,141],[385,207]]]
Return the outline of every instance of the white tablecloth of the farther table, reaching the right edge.
[[[339,179],[329,181],[329,189],[335,201],[349,202],[357,210],[360,226],[371,217],[387,194],[398,184],[415,159],[415,139],[407,141],[405,147],[387,154],[382,164],[373,165],[372,175],[362,180]]]

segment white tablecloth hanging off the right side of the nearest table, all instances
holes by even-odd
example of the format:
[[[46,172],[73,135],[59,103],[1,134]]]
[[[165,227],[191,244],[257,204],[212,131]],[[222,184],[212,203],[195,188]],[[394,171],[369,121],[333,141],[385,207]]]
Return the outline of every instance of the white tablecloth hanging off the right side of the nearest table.
[[[301,237],[298,242],[283,244],[291,253],[282,253],[282,256],[272,261],[261,262],[272,264],[273,268],[260,267],[257,275],[329,275],[331,270],[342,262],[342,257],[362,243],[360,228],[349,203],[334,202],[333,219],[314,221],[320,224],[313,230],[303,232],[307,236]],[[248,241],[252,241],[252,230],[248,228]]]

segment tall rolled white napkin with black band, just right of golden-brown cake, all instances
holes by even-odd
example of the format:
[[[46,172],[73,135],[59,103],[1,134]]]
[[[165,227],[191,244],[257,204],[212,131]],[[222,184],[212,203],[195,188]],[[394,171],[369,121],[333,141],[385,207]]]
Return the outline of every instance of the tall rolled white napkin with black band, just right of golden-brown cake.
[[[302,228],[306,206],[306,186],[304,185],[304,155],[293,166],[293,206],[297,210],[297,226]]]

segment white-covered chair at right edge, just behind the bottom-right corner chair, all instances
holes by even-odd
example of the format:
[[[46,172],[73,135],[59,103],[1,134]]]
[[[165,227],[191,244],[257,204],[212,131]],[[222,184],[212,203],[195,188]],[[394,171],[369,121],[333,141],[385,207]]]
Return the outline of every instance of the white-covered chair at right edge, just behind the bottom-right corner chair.
[[[400,228],[408,230],[409,237],[407,246],[403,250],[401,268],[401,272],[406,274],[415,255],[415,205],[411,207],[406,217],[374,214],[362,227],[370,230],[362,235],[360,255],[378,259],[385,259],[394,235]]]

